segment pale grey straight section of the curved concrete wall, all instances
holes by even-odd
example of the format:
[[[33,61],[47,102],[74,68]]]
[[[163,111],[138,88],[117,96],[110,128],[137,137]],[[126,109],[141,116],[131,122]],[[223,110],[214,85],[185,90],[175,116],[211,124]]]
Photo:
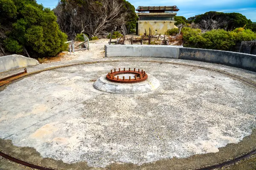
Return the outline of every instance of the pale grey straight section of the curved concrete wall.
[[[177,45],[105,45],[105,57],[177,58],[179,48]]]

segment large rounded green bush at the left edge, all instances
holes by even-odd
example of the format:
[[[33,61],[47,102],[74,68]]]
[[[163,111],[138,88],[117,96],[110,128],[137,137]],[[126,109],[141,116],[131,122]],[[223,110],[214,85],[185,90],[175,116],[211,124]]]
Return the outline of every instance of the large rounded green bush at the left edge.
[[[3,10],[6,5],[8,10]],[[6,40],[0,40],[5,42],[7,50],[20,53],[24,46],[32,56],[38,57],[55,56],[66,49],[67,35],[60,31],[57,17],[49,8],[34,0],[0,0],[0,16],[4,14],[6,20],[12,17],[8,22],[0,20],[0,25],[11,30]]]

